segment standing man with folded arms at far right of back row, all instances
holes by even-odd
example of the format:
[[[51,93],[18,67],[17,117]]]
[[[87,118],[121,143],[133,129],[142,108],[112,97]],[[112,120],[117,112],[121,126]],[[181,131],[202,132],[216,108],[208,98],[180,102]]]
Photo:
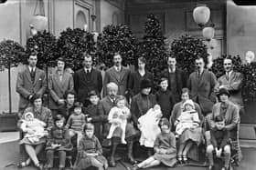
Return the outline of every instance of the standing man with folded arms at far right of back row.
[[[218,79],[218,89],[226,88],[229,91],[229,100],[240,108],[240,113],[243,113],[243,100],[241,95],[241,87],[243,81],[243,75],[233,70],[232,58],[224,58],[223,62],[225,75],[222,75]]]

